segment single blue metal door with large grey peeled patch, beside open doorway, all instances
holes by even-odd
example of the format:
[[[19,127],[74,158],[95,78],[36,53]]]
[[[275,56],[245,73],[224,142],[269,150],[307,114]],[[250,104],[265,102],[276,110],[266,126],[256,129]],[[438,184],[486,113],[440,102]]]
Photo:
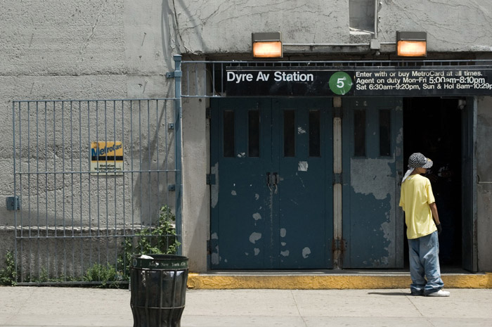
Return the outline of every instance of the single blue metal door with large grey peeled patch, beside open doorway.
[[[343,109],[343,267],[403,267],[401,99],[347,98]]]

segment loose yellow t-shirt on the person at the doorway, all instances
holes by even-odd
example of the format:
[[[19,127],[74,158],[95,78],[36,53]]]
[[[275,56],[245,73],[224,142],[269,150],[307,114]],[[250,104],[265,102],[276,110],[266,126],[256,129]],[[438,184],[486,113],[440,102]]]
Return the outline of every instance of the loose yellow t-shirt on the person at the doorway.
[[[429,235],[437,230],[430,204],[436,202],[429,179],[414,174],[401,184],[400,207],[405,211],[408,239]]]

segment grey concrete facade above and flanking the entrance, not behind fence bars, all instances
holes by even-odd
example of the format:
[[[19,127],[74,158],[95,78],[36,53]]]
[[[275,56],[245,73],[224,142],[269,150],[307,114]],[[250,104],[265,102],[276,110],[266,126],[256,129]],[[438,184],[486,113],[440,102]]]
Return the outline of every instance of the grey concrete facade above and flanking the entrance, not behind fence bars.
[[[430,52],[491,53],[491,8],[491,0],[382,0],[378,39],[393,42],[396,30],[425,30]],[[196,59],[242,53],[249,58],[251,32],[280,31],[283,41],[292,44],[368,42],[372,37],[350,33],[347,0],[5,0],[0,3],[0,30],[0,203],[13,195],[13,99],[174,96],[174,80],[165,77],[174,66],[172,55],[187,53]],[[285,51],[287,58],[290,53],[323,58],[323,53],[342,51],[374,58],[367,47],[290,46]],[[384,51],[392,53],[394,45],[382,46]],[[483,157],[478,160],[480,177],[487,181],[490,148],[484,140],[490,138],[490,106],[484,100],[479,107],[478,144],[484,151],[477,153]],[[207,269],[206,107],[205,100],[183,101],[183,242],[193,271]],[[481,269],[492,269],[485,247],[492,234],[488,185],[479,184],[478,191]],[[13,212],[1,205],[0,226],[12,221]],[[6,238],[2,242],[0,255],[13,246]]]

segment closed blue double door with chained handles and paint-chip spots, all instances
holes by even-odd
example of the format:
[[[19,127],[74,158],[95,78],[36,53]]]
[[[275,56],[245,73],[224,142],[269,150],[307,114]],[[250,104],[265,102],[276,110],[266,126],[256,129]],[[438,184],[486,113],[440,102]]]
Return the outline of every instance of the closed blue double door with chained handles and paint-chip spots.
[[[332,267],[328,100],[212,100],[212,269]]]

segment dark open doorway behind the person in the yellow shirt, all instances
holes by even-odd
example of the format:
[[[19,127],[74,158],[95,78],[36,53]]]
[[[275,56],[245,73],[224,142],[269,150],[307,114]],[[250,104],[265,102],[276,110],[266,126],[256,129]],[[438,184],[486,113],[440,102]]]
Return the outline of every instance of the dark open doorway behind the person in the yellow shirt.
[[[473,98],[420,97],[403,101],[403,153],[425,153],[434,161],[426,177],[432,184],[443,232],[441,267],[472,269],[471,160]],[[405,262],[408,264],[408,243]]]

